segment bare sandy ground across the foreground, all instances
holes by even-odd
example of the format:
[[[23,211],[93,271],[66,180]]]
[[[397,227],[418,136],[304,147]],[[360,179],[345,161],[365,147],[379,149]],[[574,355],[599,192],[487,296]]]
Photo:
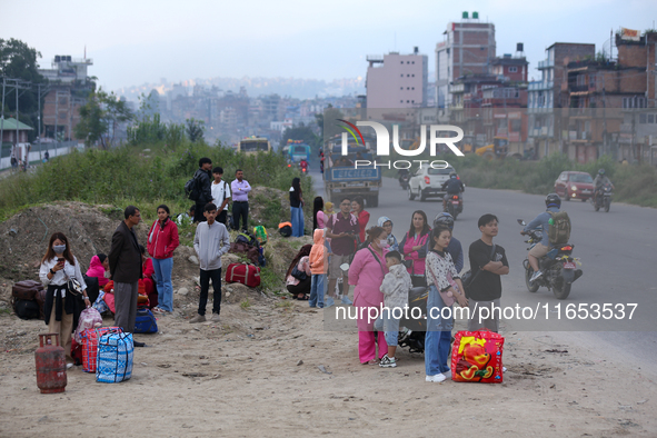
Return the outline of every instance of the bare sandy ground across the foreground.
[[[502,330],[504,384],[430,384],[420,355],[362,366],[357,335],[326,331],[322,310],[250,301],[219,325],[190,325],[191,307],[162,317],[137,336],[129,381],[74,367],[59,395],[36,385],[43,322],[2,313],[0,436],[657,436],[655,371],[574,337]]]

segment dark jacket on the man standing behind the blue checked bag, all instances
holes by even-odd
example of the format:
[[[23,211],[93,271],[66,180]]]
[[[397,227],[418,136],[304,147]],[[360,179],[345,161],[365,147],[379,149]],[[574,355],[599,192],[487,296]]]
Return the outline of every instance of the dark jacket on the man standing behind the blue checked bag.
[[[141,251],[137,235],[121,221],[112,236],[112,246],[107,256],[115,282],[133,283],[141,278]]]

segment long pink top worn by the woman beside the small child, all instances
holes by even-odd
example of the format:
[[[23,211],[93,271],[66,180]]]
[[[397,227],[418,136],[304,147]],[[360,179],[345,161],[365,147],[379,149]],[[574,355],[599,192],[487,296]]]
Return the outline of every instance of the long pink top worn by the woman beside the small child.
[[[371,246],[368,248],[371,249]],[[384,277],[388,273],[386,267],[387,252],[387,250],[384,250],[382,255],[377,253],[377,258],[375,258],[369,249],[364,248],[354,256],[354,261],[349,267],[349,285],[356,286],[356,289],[354,289],[354,306],[379,307],[384,302],[384,293],[381,293],[380,287]]]

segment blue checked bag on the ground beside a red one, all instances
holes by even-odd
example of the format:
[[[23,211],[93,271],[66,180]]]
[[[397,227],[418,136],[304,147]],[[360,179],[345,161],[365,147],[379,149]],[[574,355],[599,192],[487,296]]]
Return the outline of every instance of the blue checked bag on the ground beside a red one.
[[[118,384],[132,377],[132,334],[106,334],[98,340],[96,381]]]

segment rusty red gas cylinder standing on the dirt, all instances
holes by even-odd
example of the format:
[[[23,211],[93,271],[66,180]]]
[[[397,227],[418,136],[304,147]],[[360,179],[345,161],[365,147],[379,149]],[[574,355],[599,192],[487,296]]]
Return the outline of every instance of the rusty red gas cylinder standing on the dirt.
[[[59,335],[39,335],[39,344],[40,347],[34,351],[37,386],[41,394],[63,392],[67,386],[67,362],[63,347],[59,345]]]

